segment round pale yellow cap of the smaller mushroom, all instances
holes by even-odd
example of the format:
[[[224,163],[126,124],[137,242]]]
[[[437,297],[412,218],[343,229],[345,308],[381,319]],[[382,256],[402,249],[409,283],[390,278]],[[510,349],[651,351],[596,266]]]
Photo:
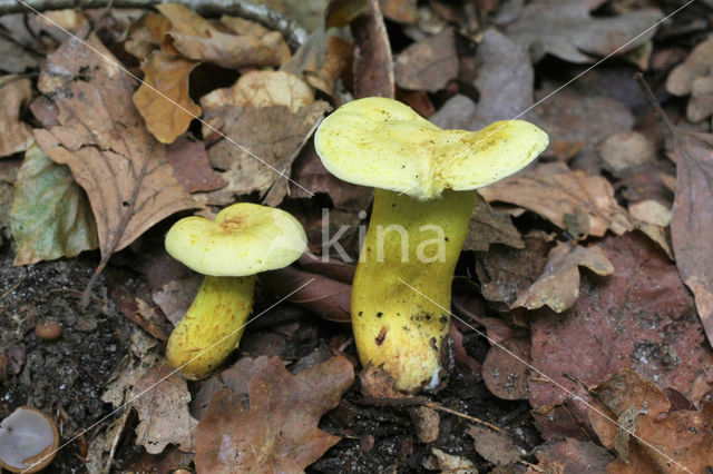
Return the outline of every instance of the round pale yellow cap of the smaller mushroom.
[[[215,220],[192,216],[166,235],[166,250],[203,275],[247,276],[286,267],[306,248],[302,225],[284,210],[238,203]]]

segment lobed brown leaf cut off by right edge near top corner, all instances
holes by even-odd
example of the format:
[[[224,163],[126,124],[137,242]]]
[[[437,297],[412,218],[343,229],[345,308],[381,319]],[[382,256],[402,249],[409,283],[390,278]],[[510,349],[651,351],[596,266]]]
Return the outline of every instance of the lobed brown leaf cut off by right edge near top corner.
[[[686,115],[692,122],[713,113],[713,37],[696,46],[686,60],[676,66],[666,79],[666,89],[674,96],[691,95]]]

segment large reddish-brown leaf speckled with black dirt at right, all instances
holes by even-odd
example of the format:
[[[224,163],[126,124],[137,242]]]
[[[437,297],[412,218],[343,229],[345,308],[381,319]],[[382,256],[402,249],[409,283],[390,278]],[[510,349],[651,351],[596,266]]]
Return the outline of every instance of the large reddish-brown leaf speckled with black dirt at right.
[[[533,365],[585,398],[570,377],[593,385],[628,367],[697,402],[703,395],[697,386],[711,383],[705,367],[713,364],[713,353],[675,266],[636,233],[606,237],[599,245],[616,271],[606,279],[585,274],[572,309],[534,313]],[[586,423],[588,408],[553,384],[530,381],[529,393],[536,408],[570,402],[569,426],[573,417]]]

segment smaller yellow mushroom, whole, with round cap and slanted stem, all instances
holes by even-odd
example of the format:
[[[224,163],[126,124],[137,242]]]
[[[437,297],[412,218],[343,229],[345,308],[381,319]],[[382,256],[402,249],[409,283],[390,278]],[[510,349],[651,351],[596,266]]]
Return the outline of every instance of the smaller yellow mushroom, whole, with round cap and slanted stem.
[[[172,257],[205,275],[166,347],[168,362],[186,378],[197,379],[237,347],[253,307],[255,275],[300,258],[306,236],[290,214],[241,203],[213,221],[198,216],[178,220],[165,245]]]

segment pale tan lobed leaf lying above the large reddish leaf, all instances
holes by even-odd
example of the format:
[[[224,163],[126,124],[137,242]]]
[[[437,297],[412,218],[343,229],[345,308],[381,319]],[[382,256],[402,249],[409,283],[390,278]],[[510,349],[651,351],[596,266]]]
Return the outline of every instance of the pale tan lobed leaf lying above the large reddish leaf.
[[[549,250],[541,275],[510,307],[537,309],[547,305],[555,313],[570,308],[579,296],[579,267],[603,276],[614,271],[614,266],[598,246],[559,243]]]

